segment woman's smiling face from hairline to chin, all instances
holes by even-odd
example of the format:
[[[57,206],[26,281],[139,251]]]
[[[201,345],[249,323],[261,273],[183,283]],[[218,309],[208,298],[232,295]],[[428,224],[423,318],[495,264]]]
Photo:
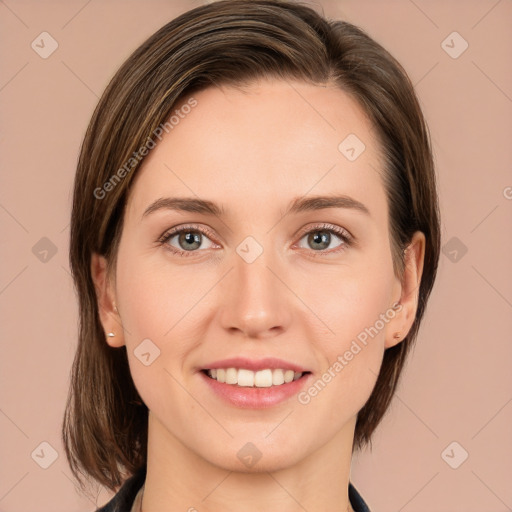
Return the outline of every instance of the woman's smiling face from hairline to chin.
[[[126,344],[150,435],[238,471],[351,450],[383,352],[414,316],[393,309],[403,289],[375,133],[334,87],[194,98],[134,181],[111,294],[124,332],[109,343]],[[245,371],[225,378],[247,385],[205,373],[233,367]]]

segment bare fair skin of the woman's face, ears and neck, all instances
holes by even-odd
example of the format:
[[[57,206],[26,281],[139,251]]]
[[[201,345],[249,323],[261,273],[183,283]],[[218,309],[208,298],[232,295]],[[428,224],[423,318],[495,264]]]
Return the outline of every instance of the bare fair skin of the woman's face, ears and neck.
[[[116,334],[106,342],[126,345],[150,410],[143,510],[352,510],[357,413],[385,349],[414,321],[424,235],[414,235],[405,273],[395,276],[379,143],[341,90],[265,80],[194,97],[197,106],[138,171],[115,276],[104,258],[91,262],[105,333]],[[350,133],[366,146],[353,162],[338,150]],[[329,208],[283,217],[293,199],[329,194],[351,196],[369,215]],[[162,209],[142,218],[159,198],[190,196],[222,204],[225,216]],[[354,242],[331,234],[318,248],[308,241],[318,223],[344,228]],[[166,248],[158,239],[185,224],[212,236],[199,234],[201,246],[180,257],[168,246],[186,252],[186,242],[175,236]],[[250,264],[236,252],[247,236],[263,248]],[[294,396],[240,409],[197,373],[217,359],[274,356],[315,381],[398,301],[400,312],[306,405]],[[149,366],[133,352],[146,338],[161,351]],[[248,442],[262,454],[251,468],[237,457]]]

